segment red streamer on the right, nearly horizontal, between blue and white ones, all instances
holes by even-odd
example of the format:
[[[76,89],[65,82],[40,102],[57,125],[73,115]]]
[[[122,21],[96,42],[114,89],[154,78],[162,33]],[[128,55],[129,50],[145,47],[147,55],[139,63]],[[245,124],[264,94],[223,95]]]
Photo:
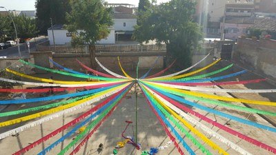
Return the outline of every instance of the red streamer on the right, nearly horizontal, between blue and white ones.
[[[175,82],[161,82],[154,81],[155,83],[164,83],[170,85],[237,85],[237,84],[248,84],[248,83],[259,83],[262,81],[266,81],[266,79],[256,79],[256,80],[248,80],[248,81],[230,81],[230,82],[217,82],[217,83],[175,83]],[[152,81],[153,82],[153,81]]]

